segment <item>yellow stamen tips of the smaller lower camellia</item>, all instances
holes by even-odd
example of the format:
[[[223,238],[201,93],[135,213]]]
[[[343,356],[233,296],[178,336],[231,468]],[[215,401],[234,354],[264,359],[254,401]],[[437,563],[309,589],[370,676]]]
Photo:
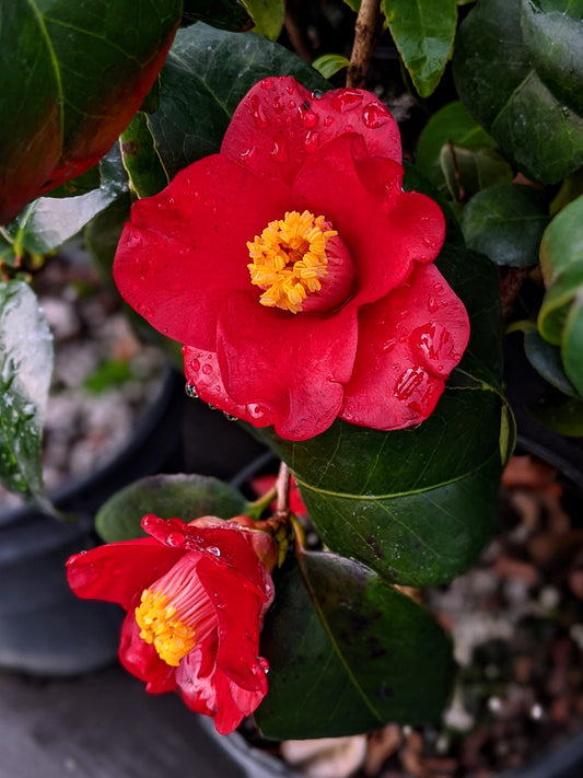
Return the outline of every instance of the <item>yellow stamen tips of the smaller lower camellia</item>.
[[[166,594],[143,590],[141,605],[136,608],[140,638],[153,645],[160,659],[173,667],[177,667],[196,645],[195,630],[173,618],[175,615],[176,607],[168,603]]]

